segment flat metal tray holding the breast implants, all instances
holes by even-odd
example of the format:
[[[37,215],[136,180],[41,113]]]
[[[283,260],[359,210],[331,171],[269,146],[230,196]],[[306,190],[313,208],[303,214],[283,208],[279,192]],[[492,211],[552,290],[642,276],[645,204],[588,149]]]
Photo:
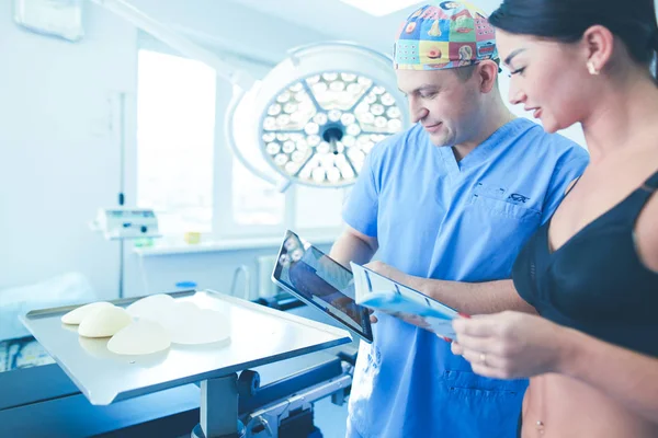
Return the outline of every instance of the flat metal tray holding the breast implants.
[[[95,405],[227,376],[352,341],[341,328],[213,290],[169,295],[202,309],[227,312],[230,343],[172,344],[161,354],[122,356],[107,350],[109,338],[84,338],[78,335],[77,326],[61,323],[61,315],[76,306],[31,311],[21,321]],[[112,302],[126,307],[140,298]]]

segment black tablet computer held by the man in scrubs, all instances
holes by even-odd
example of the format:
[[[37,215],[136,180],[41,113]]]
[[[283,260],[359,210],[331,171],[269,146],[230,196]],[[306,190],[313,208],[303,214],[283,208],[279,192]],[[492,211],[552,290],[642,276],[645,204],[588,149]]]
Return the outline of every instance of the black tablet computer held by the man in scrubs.
[[[292,231],[286,231],[272,281],[367,343],[373,332],[367,308],[354,301],[352,273]]]

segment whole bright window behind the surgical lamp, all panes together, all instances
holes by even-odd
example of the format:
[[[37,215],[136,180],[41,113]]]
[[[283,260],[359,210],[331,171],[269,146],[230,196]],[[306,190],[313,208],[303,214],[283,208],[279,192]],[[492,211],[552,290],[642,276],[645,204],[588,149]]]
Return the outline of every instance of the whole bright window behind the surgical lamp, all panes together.
[[[163,234],[338,233],[347,189],[293,185],[282,194],[231,154],[223,130],[232,89],[212,68],[141,49],[137,87],[137,205],[156,210]]]

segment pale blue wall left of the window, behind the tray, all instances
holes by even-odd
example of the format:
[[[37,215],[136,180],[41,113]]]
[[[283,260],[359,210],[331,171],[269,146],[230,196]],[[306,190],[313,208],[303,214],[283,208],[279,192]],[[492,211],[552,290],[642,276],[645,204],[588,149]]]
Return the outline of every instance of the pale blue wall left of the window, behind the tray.
[[[116,205],[116,92],[135,90],[135,30],[88,4],[87,36],[29,33],[0,4],[0,289],[81,272],[101,295],[118,246],[88,222]]]

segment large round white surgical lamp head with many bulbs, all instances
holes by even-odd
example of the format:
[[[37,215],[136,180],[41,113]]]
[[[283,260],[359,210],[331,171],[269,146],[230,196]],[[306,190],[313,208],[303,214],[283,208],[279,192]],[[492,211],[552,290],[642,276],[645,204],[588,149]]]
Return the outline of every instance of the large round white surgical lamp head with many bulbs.
[[[390,58],[329,42],[291,50],[247,92],[236,87],[226,132],[240,161],[284,191],[353,184],[374,145],[407,126]]]

